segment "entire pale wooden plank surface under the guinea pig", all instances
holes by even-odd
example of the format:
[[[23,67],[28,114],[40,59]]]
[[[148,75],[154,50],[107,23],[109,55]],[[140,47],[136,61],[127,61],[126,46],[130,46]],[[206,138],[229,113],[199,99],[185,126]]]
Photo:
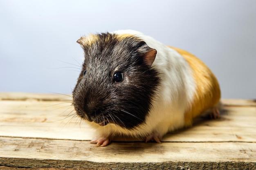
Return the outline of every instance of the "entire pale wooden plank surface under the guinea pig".
[[[223,99],[220,119],[200,118],[162,144],[126,138],[96,147],[71,99],[0,93],[0,169],[256,169],[253,100]]]

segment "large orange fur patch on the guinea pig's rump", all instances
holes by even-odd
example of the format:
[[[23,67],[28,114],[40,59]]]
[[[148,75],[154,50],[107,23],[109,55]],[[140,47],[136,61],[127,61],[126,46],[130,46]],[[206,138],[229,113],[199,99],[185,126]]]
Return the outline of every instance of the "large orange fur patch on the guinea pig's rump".
[[[214,108],[220,100],[220,86],[215,75],[197,57],[182,49],[168,46],[176,50],[189,63],[193,70],[196,91],[190,108],[184,115],[185,126],[191,126],[193,118],[204,113],[206,110]]]

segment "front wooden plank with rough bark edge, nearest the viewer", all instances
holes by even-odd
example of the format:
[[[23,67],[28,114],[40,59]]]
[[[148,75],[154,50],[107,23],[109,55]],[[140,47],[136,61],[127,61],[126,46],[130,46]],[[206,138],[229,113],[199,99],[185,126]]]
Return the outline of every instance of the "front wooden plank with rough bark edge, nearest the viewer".
[[[79,164],[78,167],[73,163],[71,167],[65,166],[67,168],[100,168],[99,165],[102,163],[105,165],[111,163],[115,168],[126,164],[131,166],[130,163],[146,163],[148,166],[152,162],[162,163],[163,166],[168,167],[169,162],[254,163],[256,160],[256,143],[247,142],[164,142],[162,144],[118,142],[108,147],[95,147],[88,141],[2,137],[0,146],[0,165],[12,160],[12,164],[18,167],[32,167],[40,160],[51,161],[52,164],[47,166],[54,168],[58,168],[60,162],[54,160],[81,161],[86,166],[81,167]],[[203,152],[202,148],[204,148]],[[8,155],[4,154],[6,152]],[[19,162],[20,160],[30,161],[25,163]]]

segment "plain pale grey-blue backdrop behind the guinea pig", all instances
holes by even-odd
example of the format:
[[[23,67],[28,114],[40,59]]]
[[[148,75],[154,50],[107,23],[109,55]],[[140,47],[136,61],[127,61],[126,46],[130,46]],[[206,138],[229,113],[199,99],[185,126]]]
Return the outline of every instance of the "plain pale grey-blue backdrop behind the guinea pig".
[[[198,56],[223,98],[256,98],[256,0],[0,0],[0,91],[71,93],[76,40],[119,29]]]

